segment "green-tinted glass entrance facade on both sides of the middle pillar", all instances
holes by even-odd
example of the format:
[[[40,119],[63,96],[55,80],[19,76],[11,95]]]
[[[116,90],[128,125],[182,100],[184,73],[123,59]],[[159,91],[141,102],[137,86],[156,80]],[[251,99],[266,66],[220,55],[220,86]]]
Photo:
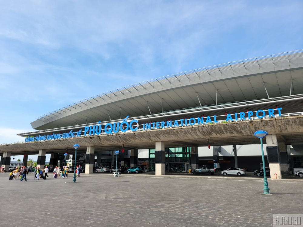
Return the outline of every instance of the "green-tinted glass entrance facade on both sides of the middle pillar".
[[[187,172],[191,147],[165,148],[165,172]],[[155,171],[155,149],[149,149],[149,171]]]

